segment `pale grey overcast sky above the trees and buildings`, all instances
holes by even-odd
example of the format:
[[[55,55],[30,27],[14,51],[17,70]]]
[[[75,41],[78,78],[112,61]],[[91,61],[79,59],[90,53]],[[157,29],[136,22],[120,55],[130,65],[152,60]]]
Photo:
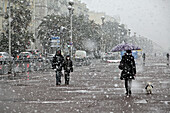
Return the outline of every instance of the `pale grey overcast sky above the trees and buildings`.
[[[91,11],[120,16],[137,35],[170,48],[170,0],[81,0]]]

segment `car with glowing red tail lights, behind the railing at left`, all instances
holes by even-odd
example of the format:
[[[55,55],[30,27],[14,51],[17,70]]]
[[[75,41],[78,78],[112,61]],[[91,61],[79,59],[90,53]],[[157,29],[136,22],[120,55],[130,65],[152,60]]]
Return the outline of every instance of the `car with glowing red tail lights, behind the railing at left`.
[[[32,61],[34,56],[30,52],[21,52],[17,58],[22,61]]]

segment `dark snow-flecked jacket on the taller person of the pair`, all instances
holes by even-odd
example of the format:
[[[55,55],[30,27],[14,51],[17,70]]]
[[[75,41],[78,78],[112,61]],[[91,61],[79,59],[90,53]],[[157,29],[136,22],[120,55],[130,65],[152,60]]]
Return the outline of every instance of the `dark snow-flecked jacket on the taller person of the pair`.
[[[64,64],[64,57],[61,54],[56,54],[52,60],[52,68],[57,69],[57,71],[62,71]]]

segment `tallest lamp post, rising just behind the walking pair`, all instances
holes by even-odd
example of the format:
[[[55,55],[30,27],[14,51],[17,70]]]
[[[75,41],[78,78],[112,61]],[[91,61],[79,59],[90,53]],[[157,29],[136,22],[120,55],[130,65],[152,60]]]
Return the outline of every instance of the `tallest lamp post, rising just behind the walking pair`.
[[[73,0],[70,0],[69,1],[69,6],[68,6],[68,10],[69,10],[69,14],[70,14],[70,45],[71,45],[71,47],[70,47],[70,56],[71,56],[71,58],[72,58],[72,56],[73,56],[73,39],[72,39],[72,37],[73,37],[73,28],[72,28],[72,24],[73,24],[73,11],[74,11],[74,8],[73,8],[73,5],[74,5],[74,2],[73,2]]]

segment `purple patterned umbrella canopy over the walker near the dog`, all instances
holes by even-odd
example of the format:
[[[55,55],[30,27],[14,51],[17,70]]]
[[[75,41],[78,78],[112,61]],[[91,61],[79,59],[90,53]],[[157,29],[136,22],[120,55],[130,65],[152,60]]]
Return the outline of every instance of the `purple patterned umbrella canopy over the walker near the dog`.
[[[126,50],[141,50],[141,48],[134,46],[132,44],[124,43],[115,46],[111,51],[118,52],[118,51],[126,51]]]

